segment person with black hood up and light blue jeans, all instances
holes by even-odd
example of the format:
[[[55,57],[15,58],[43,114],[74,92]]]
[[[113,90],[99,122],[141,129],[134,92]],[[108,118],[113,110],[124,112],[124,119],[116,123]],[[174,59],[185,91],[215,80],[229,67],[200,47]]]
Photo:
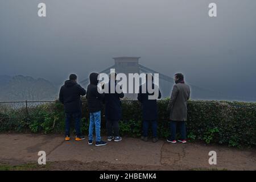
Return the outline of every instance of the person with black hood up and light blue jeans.
[[[98,73],[91,73],[89,78],[90,84],[88,85],[86,94],[88,110],[90,113],[88,144],[93,144],[93,131],[95,128],[95,146],[104,146],[105,144],[107,144],[106,142],[101,140],[101,110],[102,101],[104,100],[104,93],[98,93]]]

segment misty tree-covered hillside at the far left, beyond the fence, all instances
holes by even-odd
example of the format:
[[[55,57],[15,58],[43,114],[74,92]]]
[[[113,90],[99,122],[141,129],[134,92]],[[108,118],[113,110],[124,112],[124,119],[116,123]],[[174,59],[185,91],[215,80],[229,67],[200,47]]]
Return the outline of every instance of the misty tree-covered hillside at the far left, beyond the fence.
[[[52,101],[57,88],[43,78],[0,76],[0,101]]]

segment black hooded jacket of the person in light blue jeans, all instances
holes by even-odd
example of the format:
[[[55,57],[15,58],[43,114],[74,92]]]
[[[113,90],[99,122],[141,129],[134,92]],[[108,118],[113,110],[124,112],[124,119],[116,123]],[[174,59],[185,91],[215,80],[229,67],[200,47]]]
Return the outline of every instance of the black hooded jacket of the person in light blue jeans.
[[[90,113],[100,111],[102,109],[102,100],[104,99],[104,94],[98,93],[97,84],[98,84],[98,73],[90,74],[90,84],[87,88],[87,102],[88,110]]]

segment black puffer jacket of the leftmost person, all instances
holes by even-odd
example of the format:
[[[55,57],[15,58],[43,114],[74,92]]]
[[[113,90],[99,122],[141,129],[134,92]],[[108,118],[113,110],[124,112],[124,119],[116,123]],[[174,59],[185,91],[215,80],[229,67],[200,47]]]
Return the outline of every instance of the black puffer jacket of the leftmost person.
[[[77,82],[72,80],[65,81],[65,84],[60,88],[59,100],[64,104],[66,113],[77,113],[82,110],[81,96],[84,96],[86,91]]]

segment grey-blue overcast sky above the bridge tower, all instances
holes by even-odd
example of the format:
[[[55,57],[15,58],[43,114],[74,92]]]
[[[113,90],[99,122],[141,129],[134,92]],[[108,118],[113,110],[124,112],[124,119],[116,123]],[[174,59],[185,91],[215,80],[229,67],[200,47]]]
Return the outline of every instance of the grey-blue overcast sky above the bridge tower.
[[[38,17],[38,3],[47,17]],[[217,3],[217,18],[208,5]],[[0,75],[61,84],[114,64],[140,63],[203,88],[255,98],[255,0],[0,1]]]

